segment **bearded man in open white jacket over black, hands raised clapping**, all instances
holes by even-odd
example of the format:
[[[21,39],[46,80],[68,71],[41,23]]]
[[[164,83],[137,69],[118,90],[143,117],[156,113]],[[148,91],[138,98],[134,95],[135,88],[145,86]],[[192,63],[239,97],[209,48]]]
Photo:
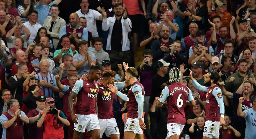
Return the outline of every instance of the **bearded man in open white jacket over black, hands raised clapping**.
[[[102,8],[102,30],[109,30],[107,39],[107,48],[109,52],[112,69],[117,69],[118,63],[130,63],[131,51],[128,33],[132,30],[131,20],[127,18],[127,11],[121,3],[114,5],[115,16],[108,17],[104,8]],[[113,39],[112,39],[113,38]]]

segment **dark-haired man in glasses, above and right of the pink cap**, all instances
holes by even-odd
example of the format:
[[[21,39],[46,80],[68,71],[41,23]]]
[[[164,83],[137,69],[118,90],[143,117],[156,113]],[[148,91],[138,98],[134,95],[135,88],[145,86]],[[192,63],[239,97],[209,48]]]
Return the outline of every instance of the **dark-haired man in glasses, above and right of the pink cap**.
[[[234,50],[234,42],[232,40],[226,40],[224,43],[224,53],[219,53],[217,55],[217,57],[220,59],[220,63],[222,63],[222,57],[223,56],[228,56],[230,57],[232,64],[231,66],[235,66],[238,57],[236,55],[233,54],[233,50]]]

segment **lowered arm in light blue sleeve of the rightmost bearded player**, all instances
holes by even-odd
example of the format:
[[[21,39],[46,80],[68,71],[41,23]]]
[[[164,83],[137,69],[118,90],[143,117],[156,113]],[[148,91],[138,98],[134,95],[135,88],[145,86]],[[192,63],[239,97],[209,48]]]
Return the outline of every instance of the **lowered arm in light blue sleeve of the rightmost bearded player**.
[[[225,124],[224,122],[224,102],[223,102],[223,98],[222,98],[222,94],[221,94],[221,90],[218,87],[215,87],[213,89],[213,96],[216,98],[219,107],[220,107],[220,124],[223,125]]]

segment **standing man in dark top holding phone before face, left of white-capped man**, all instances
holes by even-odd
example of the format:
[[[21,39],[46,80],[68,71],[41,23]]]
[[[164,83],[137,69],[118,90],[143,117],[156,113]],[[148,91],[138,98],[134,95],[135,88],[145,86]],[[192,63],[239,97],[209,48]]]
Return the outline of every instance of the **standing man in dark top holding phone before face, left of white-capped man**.
[[[143,51],[143,61],[138,66],[138,77],[140,77],[140,83],[143,86],[152,86],[153,76],[156,74],[156,69],[152,66],[153,53],[152,50],[146,49]],[[150,87],[144,88],[144,112],[147,115],[149,111],[149,99],[152,94]]]

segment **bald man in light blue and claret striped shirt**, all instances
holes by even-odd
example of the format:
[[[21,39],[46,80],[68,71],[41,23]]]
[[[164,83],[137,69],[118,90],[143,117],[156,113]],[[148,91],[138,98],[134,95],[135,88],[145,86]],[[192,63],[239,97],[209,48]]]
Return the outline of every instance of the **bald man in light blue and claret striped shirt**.
[[[54,97],[54,93],[59,92],[54,75],[49,73],[49,63],[47,60],[40,61],[40,72],[35,75],[40,80],[40,89],[46,97]]]

